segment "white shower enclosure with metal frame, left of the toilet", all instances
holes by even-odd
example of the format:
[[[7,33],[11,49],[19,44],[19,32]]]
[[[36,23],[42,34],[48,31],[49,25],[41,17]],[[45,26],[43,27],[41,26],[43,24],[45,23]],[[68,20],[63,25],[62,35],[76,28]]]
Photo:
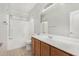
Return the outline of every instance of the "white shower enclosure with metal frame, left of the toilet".
[[[10,19],[8,50],[23,47],[29,34],[28,22]]]

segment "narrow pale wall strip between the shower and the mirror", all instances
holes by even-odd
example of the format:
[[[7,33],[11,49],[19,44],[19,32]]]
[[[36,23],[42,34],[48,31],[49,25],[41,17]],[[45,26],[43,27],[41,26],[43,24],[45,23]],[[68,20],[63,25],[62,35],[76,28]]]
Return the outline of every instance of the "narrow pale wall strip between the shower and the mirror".
[[[45,3],[38,3],[29,13],[29,18],[34,19],[34,33],[38,34],[41,32],[40,14],[45,5]]]

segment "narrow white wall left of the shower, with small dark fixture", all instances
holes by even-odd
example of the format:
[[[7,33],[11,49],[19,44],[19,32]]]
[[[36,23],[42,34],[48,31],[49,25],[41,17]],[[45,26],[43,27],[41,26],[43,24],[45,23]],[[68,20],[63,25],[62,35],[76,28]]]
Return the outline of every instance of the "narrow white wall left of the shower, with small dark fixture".
[[[6,49],[7,39],[8,39],[8,15],[0,14],[0,42],[2,43],[0,49],[3,50]]]

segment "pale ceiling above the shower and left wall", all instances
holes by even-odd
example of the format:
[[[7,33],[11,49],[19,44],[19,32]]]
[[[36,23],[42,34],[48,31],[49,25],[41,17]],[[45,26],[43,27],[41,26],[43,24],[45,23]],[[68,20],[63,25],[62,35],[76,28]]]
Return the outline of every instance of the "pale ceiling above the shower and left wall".
[[[0,14],[27,16],[36,3],[0,3]]]

